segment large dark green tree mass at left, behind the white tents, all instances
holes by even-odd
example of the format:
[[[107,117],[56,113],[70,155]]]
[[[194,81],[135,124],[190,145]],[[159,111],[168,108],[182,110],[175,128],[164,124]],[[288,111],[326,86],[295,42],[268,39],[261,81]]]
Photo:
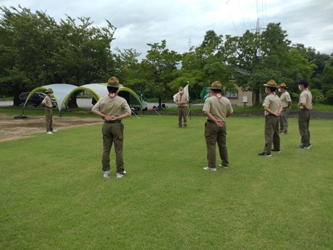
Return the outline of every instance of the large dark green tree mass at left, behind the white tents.
[[[110,44],[115,28],[92,26],[89,18],[67,16],[60,24],[41,11],[0,7],[0,82],[19,94],[51,83],[83,85],[114,72]],[[76,98],[72,99],[76,106]]]

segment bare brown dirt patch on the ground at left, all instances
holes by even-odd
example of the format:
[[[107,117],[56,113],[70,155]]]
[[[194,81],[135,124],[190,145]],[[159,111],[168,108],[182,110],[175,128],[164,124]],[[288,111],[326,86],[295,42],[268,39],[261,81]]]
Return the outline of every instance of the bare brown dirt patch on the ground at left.
[[[101,118],[53,117],[53,128],[61,130],[77,126],[87,126],[101,123]],[[34,133],[46,133],[45,117],[28,117],[15,119],[12,116],[0,114],[0,142],[19,140],[30,137]]]

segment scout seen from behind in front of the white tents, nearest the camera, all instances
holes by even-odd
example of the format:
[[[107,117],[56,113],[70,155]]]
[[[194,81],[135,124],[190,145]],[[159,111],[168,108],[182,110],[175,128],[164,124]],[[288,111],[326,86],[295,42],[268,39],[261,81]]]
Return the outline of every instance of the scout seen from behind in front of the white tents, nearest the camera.
[[[116,153],[117,178],[121,178],[126,171],[123,167],[123,124],[121,119],[131,115],[130,106],[126,99],[118,96],[120,84],[116,77],[108,80],[108,96],[101,97],[92,107],[92,113],[99,115],[104,119],[103,134],[103,156],[102,170],[103,176],[110,176],[110,151],[114,143],[114,152]]]

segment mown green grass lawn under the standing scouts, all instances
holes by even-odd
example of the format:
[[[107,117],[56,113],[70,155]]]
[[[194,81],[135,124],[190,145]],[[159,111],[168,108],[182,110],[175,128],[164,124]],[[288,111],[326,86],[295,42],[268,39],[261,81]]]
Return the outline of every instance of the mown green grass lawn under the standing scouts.
[[[282,153],[264,119],[227,120],[229,169],[207,172],[205,117],[123,121],[128,174],[101,171],[101,124],[0,142],[0,249],[333,249],[332,120],[297,119]],[[56,124],[54,124],[56,128]]]

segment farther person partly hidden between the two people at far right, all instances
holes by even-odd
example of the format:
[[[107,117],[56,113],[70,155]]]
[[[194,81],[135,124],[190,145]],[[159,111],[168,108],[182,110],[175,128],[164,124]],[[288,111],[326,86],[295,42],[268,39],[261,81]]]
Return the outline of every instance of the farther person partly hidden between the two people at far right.
[[[280,122],[280,135],[287,135],[288,133],[288,115],[289,109],[291,108],[291,97],[289,92],[287,91],[288,87],[286,83],[281,83],[279,85],[279,92],[281,93],[280,101],[282,106],[282,111],[279,116]]]

